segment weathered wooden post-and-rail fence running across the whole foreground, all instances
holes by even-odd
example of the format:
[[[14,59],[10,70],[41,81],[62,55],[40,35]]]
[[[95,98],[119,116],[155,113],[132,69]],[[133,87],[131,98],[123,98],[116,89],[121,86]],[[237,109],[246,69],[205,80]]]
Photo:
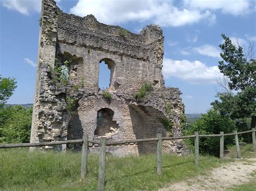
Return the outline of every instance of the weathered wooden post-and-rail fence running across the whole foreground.
[[[250,131],[226,133],[223,131],[219,135],[199,135],[198,132],[194,132],[194,135],[191,136],[181,136],[181,137],[162,137],[161,133],[157,134],[156,138],[145,138],[145,139],[134,139],[134,140],[121,140],[106,142],[106,137],[100,137],[99,142],[96,140],[89,140],[88,135],[84,135],[83,139],[77,140],[64,140],[59,142],[45,142],[45,143],[20,143],[20,144],[1,144],[0,148],[15,148],[15,147],[35,147],[35,146],[52,146],[52,145],[62,145],[62,144],[72,144],[72,143],[83,143],[82,146],[82,163],[81,163],[81,179],[84,179],[86,176],[86,167],[87,167],[87,153],[88,153],[88,144],[98,144],[99,145],[99,173],[98,173],[98,189],[103,190],[105,185],[105,157],[106,157],[106,146],[114,145],[127,145],[127,144],[136,144],[142,142],[151,142],[157,141],[157,174],[162,172],[162,153],[161,147],[163,140],[175,140],[175,139],[186,139],[194,138],[194,162],[196,165],[199,164],[199,137],[220,137],[220,159],[224,157],[224,137],[225,136],[234,136],[235,145],[237,148],[237,158],[241,158],[240,147],[238,142],[238,135],[244,133],[252,132],[252,143],[253,143],[253,152],[256,152],[256,143],[255,143],[255,128],[252,128]]]

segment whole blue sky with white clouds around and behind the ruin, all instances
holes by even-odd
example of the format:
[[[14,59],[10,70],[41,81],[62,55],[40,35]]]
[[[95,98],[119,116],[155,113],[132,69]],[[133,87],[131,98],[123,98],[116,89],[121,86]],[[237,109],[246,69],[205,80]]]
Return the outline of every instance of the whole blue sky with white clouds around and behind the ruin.
[[[181,90],[186,113],[206,112],[221,90],[216,83],[222,77],[217,67],[221,34],[234,43],[237,39],[245,49],[256,43],[256,3],[250,0],[58,0],[57,4],[64,12],[92,14],[99,22],[134,33],[159,24],[165,37],[165,85]],[[41,0],[0,1],[0,74],[18,82],[8,103],[33,103],[40,10]],[[109,75],[106,70],[100,74]],[[100,86],[108,84],[102,80]]]

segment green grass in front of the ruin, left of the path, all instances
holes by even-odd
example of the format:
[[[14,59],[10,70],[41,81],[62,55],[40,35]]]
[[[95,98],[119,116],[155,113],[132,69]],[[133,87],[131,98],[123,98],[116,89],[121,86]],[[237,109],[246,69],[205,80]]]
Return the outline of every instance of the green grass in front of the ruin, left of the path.
[[[97,189],[98,155],[89,154],[87,176],[80,181],[81,154],[67,151],[29,152],[24,148],[0,150],[0,189],[3,190],[94,190]],[[117,158],[107,155],[106,190],[158,189],[219,166],[215,157],[163,155],[163,174],[156,173],[156,155]]]

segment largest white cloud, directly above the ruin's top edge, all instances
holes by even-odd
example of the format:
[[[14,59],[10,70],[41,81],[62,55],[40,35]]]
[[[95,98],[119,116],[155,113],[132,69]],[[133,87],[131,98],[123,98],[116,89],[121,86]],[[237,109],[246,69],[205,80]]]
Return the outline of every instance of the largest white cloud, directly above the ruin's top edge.
[[[150,20],[161,26],[183,26],[212,17],[208,10],[179,9],[172,1],[157,0],[79,0],[70,12],[78,16],[92,14],[106,24]]]

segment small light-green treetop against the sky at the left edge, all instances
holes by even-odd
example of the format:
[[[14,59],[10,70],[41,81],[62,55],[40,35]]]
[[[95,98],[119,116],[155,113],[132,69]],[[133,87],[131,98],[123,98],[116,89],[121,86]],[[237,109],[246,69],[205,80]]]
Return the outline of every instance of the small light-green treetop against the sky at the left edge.
[[[2,77],[0,75],[0,107],[14,94],[17,82],[13,77]]]

